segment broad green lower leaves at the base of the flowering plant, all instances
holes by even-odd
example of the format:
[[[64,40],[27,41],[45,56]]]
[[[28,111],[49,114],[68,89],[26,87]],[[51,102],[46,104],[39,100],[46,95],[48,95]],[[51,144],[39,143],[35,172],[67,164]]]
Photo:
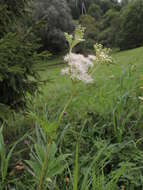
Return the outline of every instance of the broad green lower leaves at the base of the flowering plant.
[[[41,128],[37,126],[36,130],[37,142],[34,140],[30,160],[26,161],[27,169],[38,190],[50,189],[50,186],[54,186],[55,177],[65,170],[65,159],[68,155],[57,156],[57,145],[54,142],[46,142],[49,139]]]

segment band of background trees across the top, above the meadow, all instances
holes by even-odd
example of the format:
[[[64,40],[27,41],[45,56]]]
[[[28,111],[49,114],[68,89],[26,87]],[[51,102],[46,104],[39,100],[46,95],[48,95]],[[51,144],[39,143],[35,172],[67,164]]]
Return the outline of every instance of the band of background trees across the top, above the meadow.
[[[92,49],[95,42],[121,50],[143,44],[143,0],[1,0],[0,9],[0,36],[15,28],[25,33],[38,23],[33,36],[40,39],[42,51],[63,52],[64,32],[76,24],[86,27],[87,41],[79,51]]]

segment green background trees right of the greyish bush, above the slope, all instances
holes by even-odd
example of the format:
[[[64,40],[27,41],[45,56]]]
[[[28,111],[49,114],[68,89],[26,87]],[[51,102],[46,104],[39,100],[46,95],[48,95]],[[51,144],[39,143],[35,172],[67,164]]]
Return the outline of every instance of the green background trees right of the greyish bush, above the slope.
[[[85,49],[91,49],[95,42],[121,50],[143,44],[142,0],[68,0],[68,3],[73,19],[86,27]]]

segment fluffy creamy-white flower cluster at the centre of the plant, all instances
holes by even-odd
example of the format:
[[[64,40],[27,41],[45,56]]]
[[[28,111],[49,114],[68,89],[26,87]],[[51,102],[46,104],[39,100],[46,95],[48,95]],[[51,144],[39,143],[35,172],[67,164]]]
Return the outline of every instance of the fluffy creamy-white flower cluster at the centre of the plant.
[[[81,54],[71,53],[65,56],[64,60],[68,67],[62,69],[63,75],[69,75],[72,80],[79,80],[86,84],[93,83],[93,78],[89,70],[94,66],[95,56],[84,57]]]

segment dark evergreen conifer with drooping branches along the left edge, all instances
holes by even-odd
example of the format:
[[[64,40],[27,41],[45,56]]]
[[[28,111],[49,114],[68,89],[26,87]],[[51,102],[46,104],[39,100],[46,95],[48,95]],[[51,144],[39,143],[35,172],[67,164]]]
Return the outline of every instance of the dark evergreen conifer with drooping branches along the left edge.
[[[38,40],[28,26],[26,3],[30,1],[0,1],[0,118],[10,110],[26,107],[28,94],[38,89]],[[19,17],[21,15],[21,17]]]

